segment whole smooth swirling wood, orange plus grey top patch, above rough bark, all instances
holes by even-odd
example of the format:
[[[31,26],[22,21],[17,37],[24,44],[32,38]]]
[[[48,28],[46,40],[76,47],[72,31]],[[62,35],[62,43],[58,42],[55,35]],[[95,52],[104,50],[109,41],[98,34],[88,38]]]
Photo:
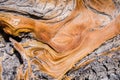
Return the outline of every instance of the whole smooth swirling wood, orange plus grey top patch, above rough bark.
[[[28,60],[29,67],[35,64],[60,79],[78,60],[120,34],[119,3],[117,0],[1,0],[0,25],[14,36],[33,33],[37,40],[26,44],[10,40]]]

